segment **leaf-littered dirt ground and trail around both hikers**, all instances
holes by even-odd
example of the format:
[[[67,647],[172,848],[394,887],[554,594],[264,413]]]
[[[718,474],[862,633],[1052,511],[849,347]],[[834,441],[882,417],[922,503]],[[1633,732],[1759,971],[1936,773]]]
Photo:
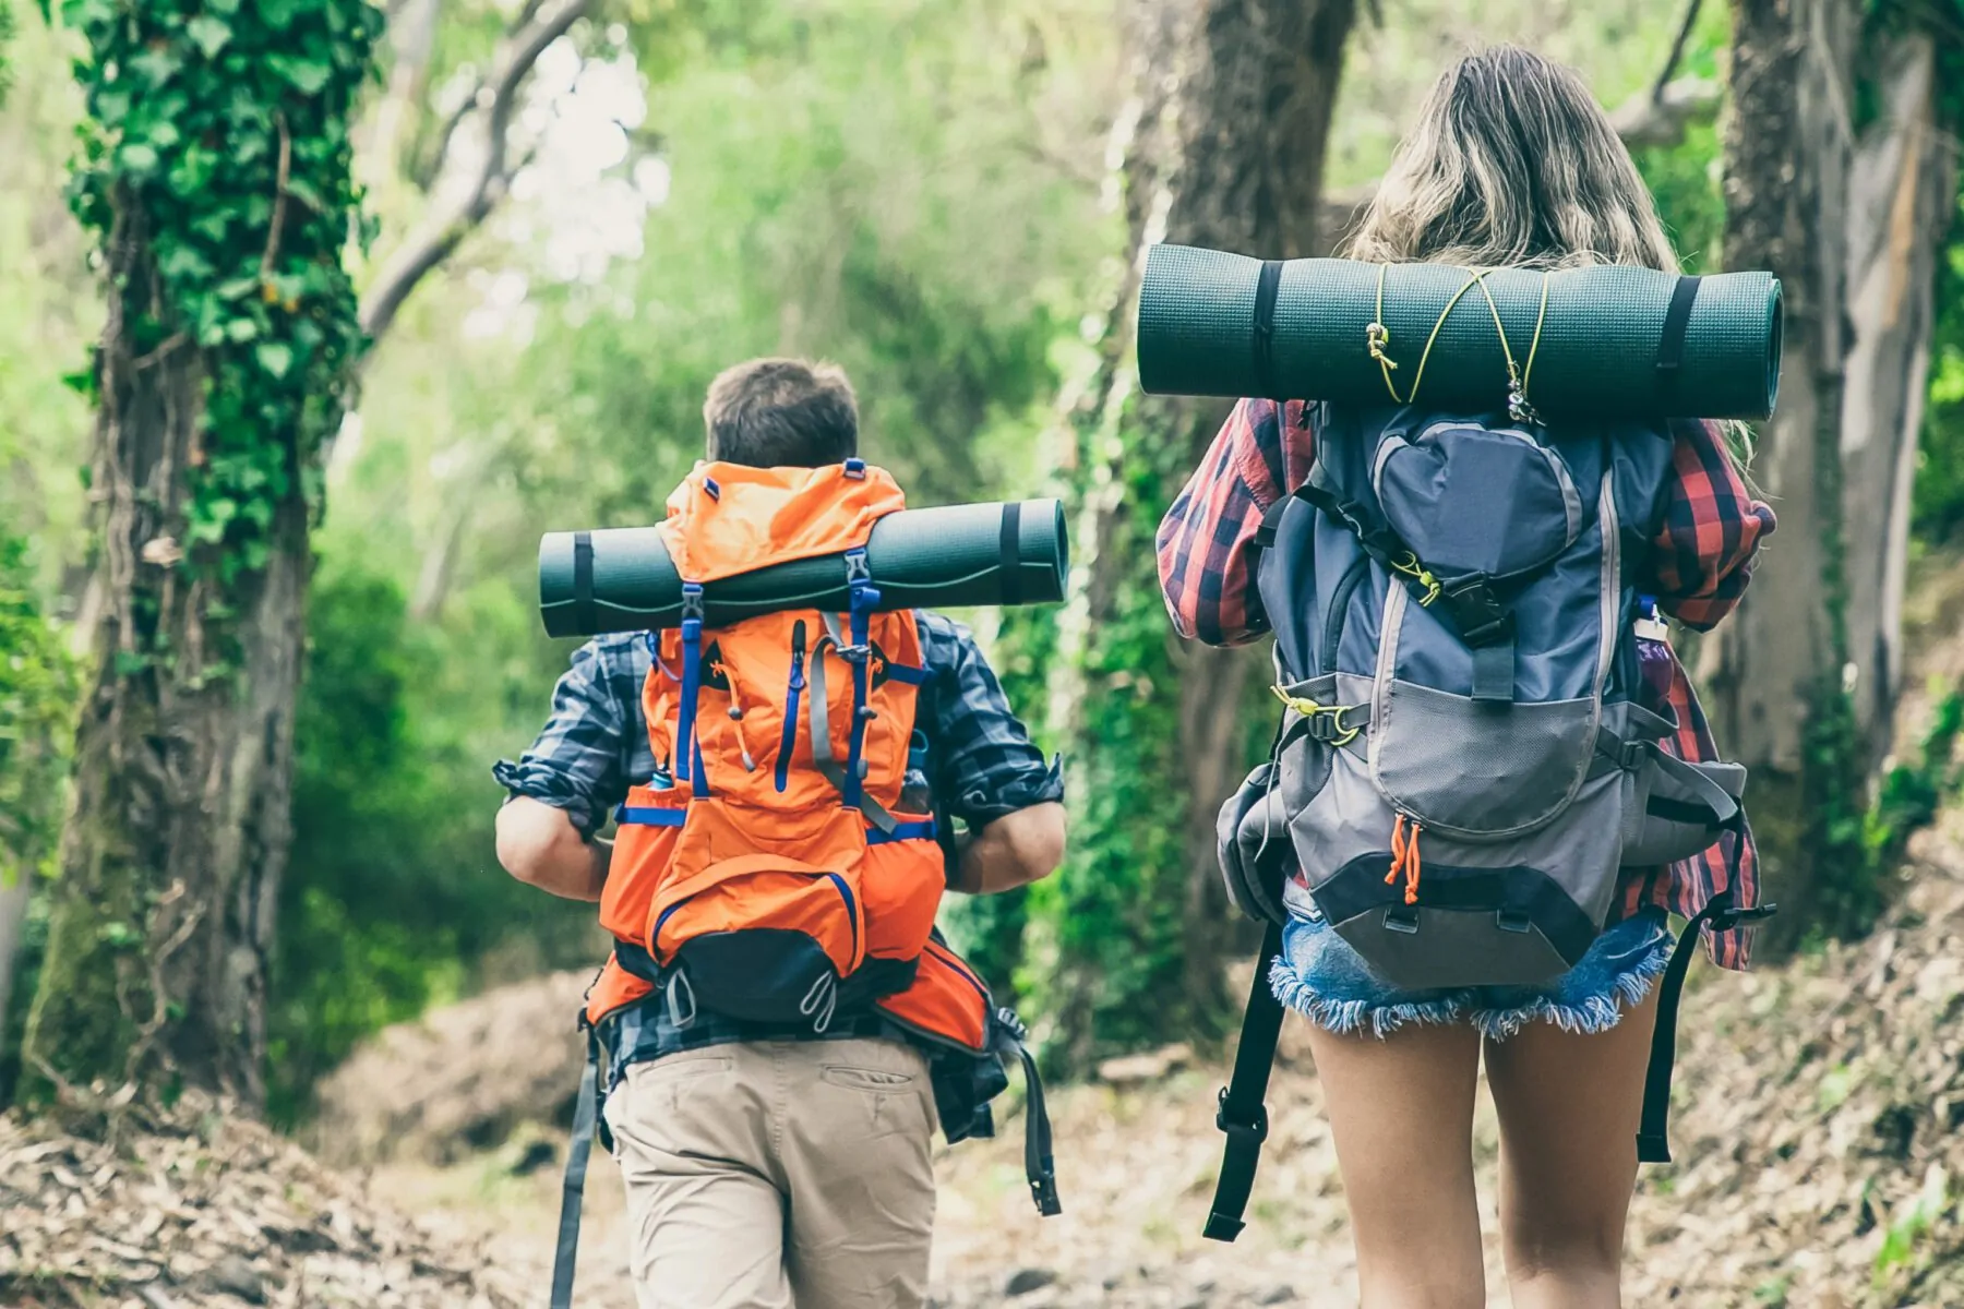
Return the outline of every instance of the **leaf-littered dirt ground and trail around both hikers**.
[[[464,1015],[511,1019],[526,1003],[564,1013],[564,995],[550,991],[573,983],[526,985],[548,995],[495,993]],[[1903,893],[1868,940],[1744,977],[1701,969],[1685,1003],[1679,1162],[1640,1181],[1628,1303],[1964,1305],[1960,1017],[1964,812],[1917,838]],[[436,1079],[432,1058],[446,1050],[450,1075],[479,1089],[544,1087],[548,1062],[570,1072],[572,1060],[528,1054],[544,1044],[538,1026],[497,1026],[517,1046],[444,1015],[391,1034],[379,1050],[393,1050],[397,1075],[359,1066],[365,1093],[409,1095],[412,1070]],[[475,1044],[473,1073],[456,1072],[462,1044]],[[1161,1064],[1123,1070],[1127,1085],[1053,1097],[1059,1219],[1031,1211],[1011,1109],[998,1140],[943,1150],[943,1307],[1355,1303],[1341,1187],[1300,1028],[1284,1038],[1269,1097],[1275,1130],[1233,1246],[1198,1234],[1220,1160],[1212,1099],[1222,1070]],[[572,1077],[556,1085],[570,1089]],[[452,1087],[442,1099],[456,1097]],[[328,1158],[332,1138],[359,1144],[348,1107],[340,1113],[322,1119]],[[520,1123],[475,1148],[487,1113],[452,1115],[422,1138],[405,1132],[420,1140],[420,1160],[365,1166],[328,1166],[220,1105],[181,1105],[163,1123],[130,1126],[116,1146],[0,1119],[0,1303],[544,1303],[560,1132]],[[1491,1232],[1491,1111],[1477,1154]],[[577,1303],[628,1309],[619,1179],[599,1152],[587,1209]],[[1493,1254],[1495,1303],[1504,1303]]]

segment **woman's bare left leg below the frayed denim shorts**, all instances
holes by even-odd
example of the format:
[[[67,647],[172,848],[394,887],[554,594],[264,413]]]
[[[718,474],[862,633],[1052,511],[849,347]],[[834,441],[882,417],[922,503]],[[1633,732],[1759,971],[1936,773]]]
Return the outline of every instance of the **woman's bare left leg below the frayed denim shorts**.
[[[1481,1309],[1487,1270],[1473,1195],[1479,1032],[1412,1024],[1312,1030],[1363,1309]]]

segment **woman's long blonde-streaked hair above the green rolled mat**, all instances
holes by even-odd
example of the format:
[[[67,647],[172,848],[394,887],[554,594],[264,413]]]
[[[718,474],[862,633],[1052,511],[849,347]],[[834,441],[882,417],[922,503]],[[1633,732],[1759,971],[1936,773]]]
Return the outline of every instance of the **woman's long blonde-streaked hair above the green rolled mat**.
[[[1650,188],[1569,69],[1495,45],[1447,69],[1343,251],[1367,263],[1677,273]]]

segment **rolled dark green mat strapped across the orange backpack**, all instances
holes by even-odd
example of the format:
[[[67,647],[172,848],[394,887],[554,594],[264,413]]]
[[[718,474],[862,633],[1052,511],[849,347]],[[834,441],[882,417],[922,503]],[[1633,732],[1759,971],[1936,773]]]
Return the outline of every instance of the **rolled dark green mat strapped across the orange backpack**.
[[[874,524],[866,567],[880,608],[1051,604],[1064,599],[1070,544],[1061,500],[907,508]],[[581,589],[581,575],[589,587]],[[585,591],[585,595],[581,595]],[[845,555],[774,563],[703,585],[703,620],[725,626],[784,608],[848,604]],[[682,577],[656,528],[548,532],[538,542],[548,636],[644,632],[682,622]]]

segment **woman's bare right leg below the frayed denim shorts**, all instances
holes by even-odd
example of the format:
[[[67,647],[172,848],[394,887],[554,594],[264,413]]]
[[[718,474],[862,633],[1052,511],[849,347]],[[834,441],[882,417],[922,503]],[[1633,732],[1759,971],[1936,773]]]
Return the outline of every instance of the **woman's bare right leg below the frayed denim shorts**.
[[[1487,1042],[1514,1309],[1618,1309],[1622,1229],[1658,997],[1607,1032],[1536,1022]]]

